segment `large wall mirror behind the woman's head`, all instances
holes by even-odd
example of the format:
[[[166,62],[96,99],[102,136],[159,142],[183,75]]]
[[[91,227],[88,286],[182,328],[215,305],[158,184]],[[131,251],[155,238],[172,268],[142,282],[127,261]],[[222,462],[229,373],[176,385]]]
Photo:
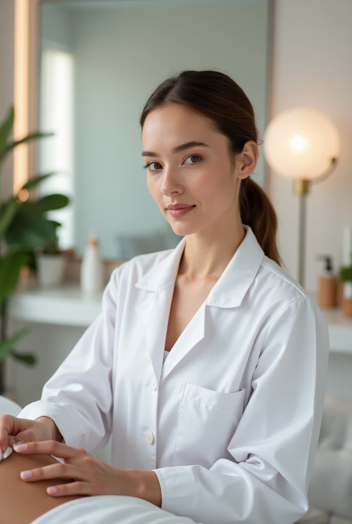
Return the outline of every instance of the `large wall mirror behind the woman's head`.
[[[267,123],[269,0],[38,2],[37,172],[41,194],[72,203],[52,212],[60,247],[81,257],[91,232],[105,259],[174,247],[180,237],[152,199],[139,116],[153,89],[183,69],[229,74]],[[260,148],[261,150],[261,148]],[[253,178],[265,187],[262,150]]]

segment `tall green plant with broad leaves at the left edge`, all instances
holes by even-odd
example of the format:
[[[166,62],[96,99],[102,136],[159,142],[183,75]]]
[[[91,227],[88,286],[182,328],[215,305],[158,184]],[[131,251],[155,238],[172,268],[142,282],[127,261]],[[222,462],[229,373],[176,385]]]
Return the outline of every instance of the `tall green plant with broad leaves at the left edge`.
[[[0,123],[0,173],[2,163],[19,144],[53,133],[31,133],[21,140],[10,139],[14,122],[14,107],[10,107],[4,121]],[[32,354],[21,354],[16,350],[18,341],[28,333],[28,328],[7,334],[8,299],[17,287],[20,271],[23,266],[36,270],[35,252],[37,248],[46,247],[56,241],[56,228],[61,224],[48,220],[46,214],[53,209],[61,209],[69,203],[67,196],[51,194],[40,199],[24,201],[30,189],[53,173],[38,175],[28,180],[17,195],[2,200],[0,194],[0,395],[5,390],[5,358],[11,356],[26,365],[34,365],[36,357]]]

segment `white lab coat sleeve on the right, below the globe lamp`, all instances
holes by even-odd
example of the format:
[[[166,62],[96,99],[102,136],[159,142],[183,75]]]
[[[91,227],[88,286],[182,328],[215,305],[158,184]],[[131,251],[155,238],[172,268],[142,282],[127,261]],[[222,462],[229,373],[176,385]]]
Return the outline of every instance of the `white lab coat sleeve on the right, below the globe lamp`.
[[[251,395],[227,447],[233,459],[219,459],[209,470],[197,464],[152,470],[161,508],[203,524],[292,524],[302,517],[328,353],[321,310],[310,297],[292,299],[263,333]]]

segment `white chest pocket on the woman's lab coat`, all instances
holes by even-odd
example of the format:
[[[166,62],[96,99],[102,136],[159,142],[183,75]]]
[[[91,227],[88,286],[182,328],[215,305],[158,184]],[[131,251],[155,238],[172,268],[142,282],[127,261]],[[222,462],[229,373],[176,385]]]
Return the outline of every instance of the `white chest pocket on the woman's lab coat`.
[[[200,464],[210,468],[229,458],[227,446],[243,412],[246,388],[213,391],[184,384],[175,438],[173,465]]]

